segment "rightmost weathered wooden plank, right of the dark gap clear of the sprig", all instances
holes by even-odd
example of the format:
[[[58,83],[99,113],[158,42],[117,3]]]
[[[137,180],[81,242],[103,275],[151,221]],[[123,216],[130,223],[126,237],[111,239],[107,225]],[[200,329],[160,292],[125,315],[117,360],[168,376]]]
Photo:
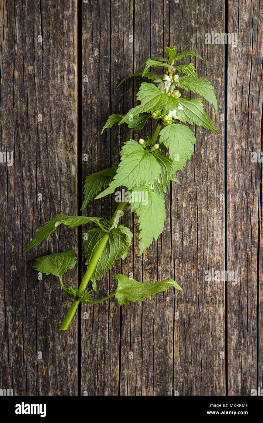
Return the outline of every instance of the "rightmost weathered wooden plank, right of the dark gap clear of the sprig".
[[[238,34],[237,47],[228,45],[227,261],[238,272],[238,283],[228,283],[229,395],[257,389],[260,163],[251,153],[261,148],[262,13],[258,2],[229,2],[228,32]]]

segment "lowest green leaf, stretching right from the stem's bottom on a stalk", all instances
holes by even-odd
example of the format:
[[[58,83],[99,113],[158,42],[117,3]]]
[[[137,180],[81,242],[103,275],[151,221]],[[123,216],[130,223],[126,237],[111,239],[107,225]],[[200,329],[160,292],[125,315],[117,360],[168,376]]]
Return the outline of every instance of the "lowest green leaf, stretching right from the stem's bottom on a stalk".
[[[151,297],[158,292],[166,291],[170,287],[174,287],[179,291],[182,288],[173,279],[165,279],[161,282],[137,282],[125,275],[116,275],[113,279],[118,280],[118,286],[115,291],[115,297],[120,305],[128,305],[129,301],[143,301],[144,297]]]

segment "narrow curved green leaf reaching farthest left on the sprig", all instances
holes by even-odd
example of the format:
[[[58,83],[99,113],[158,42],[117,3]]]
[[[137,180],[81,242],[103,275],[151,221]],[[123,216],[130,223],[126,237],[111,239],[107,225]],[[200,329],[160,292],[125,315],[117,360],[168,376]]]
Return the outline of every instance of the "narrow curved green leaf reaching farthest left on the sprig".
[[[35,238],[32,239],[30,244],[28,244],[24,248],[23,253],[26,253],[34,245],[40,244],[40,242],[43,241],[44,238],[48,239],[49,235],[61,223],[64,223],[64,225],[67,225],[69,228],[72,228],[73,226],[83,225],[83,224],[90,222],[90,221],[98,223],[99,220],[100,220],[100,217],[67,216],[66,214],[56,214],[55,217],[53,217],[51,220],[46,222],[45,226],[37,229],[37,233],[36,233]]]

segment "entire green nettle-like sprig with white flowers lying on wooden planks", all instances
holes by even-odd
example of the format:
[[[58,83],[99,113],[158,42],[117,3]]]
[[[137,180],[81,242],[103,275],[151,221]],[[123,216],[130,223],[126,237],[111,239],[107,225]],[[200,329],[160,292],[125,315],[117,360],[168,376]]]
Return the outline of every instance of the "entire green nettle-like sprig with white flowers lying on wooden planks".
[[[197,77],[193,63],[183,65],[176,63],[189,55],[202,59],[201,56],[193,51],[176,54],[175,46],[166,47],[165,53],[167,58],[149,58],[142,65],[143,69],[129,76],[146,77],[152,82],[141,82],[137,93],[140,104],[125,115],[109,116],[101,131],[103,133],[115,123],[119,125],[126,123],[129,128],[138,131],[144,128],[148,119],[151,119],[156,124],[154,135],[152,138],[146,136],[125,141],[117,169],[101,170],[85,179],[81,211],[94,198],[99,199],[112,194],[118,187],[127,187],[125,199],[119,203],[111,219],[104,216],[57,214],[38,229],[35,238],[24,248],[25,253],[43,239],[48,239],[52,231],[62,223],[69,228],[89,222],[95,224],[95,228],[87,231],[84,238],[87,270],[79,288],[73,283],[65,287],[62,282],[62,276],[67,269],[72,269],[76,264],[74,250],[39,257],[33,264],[33,269],[38,272],[57,276],[62,291],[73,299],[60,330],[68,328],[80,302],[92,305],[115,296],[120,305],[127,305],[129,301],[142,301],[144,297],[165,291],[169,287],[182,290],[172,279],[157,283],[153,281],[141,283],[125,275],[117,275],[114,277],[118,281],[116,290],[108,297],[94,301],[96,282],[114,266],[116,260],[125,259],[132,242],[133,233],[120,222],[126,204],[129,204],[131,211],[135,211],[138,216],[140,255],[162,233],[165,222],[164,194],[170,181],[179,182],[174,174],[186,165],[187,159],[191,159],[196,142],[194,132],[184,124],[203,126],[207,130],[220,133],[204,111],[202,99],[185,99],[179,91],[180,89],[199,94],[214,106],[217,114],[217,99],[211,83]],[[165,73],[153,73],[149,68],[165,69]],[[179,77],[178,72],[183,76]],[[119,85],[129,77],[125,77]],[[163,146],[168,148],[168,156],[163,153]],[[89,281],[92,281],[93,291],[86,289]]]

